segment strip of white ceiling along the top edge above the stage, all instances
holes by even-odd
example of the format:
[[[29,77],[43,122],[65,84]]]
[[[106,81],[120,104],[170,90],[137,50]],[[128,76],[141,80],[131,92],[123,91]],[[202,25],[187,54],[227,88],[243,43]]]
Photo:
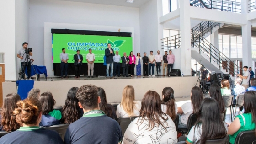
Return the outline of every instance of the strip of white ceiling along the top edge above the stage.
[[[128,3],[126,2],[126,0],[62,0],[62,1],[75,1],[75,2],[102,4],[102,5],[117,5],[117,6],[139,8],[150,0],[134,0],[133,3]]]

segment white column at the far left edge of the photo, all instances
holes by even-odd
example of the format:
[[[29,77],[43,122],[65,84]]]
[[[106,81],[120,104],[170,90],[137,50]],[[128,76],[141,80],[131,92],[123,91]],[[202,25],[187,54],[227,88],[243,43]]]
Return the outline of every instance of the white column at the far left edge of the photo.
[[[0,0],[0,52],[5,53],[5,80],[16,80],[15,0]]]

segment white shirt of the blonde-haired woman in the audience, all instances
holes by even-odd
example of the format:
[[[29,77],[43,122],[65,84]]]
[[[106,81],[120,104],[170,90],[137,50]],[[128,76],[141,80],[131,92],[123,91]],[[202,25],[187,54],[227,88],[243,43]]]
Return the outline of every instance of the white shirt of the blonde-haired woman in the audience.
[[[140,101],[133,101],[135,103],[135,107],[133,110],[133,116],[139,116],[139,111],[141,109],[141,102]],[[128,113],[123,110],[123,107],[117,105],[117,118],[119,117],[129,117]]]

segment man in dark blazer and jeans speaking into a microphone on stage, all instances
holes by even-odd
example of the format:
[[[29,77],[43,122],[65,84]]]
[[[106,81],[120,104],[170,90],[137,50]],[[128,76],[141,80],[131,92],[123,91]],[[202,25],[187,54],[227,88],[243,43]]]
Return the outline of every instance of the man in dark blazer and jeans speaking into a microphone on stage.
[[[107,63],[107,77],[109,77],[109,66],[110,68],[110,77],[113,77],[113,68],[114,68],[114,59],[113,56],[115,56],[115,53],[113,53],[114,50],[111,48],[111,44],[107,43],[107,49],[105,49],[105,56],[106,56],[106,63]]]

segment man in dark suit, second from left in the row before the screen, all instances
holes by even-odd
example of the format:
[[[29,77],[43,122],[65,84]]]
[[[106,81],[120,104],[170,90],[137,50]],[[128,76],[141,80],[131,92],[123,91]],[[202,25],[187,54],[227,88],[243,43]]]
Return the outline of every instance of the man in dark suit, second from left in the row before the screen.
[[[80,54],[80,50],[76,51],[76,54],[74,55],[75,60],[75,78],[80,78],[80,71],[82,69],[83,65],[83,56]]]

